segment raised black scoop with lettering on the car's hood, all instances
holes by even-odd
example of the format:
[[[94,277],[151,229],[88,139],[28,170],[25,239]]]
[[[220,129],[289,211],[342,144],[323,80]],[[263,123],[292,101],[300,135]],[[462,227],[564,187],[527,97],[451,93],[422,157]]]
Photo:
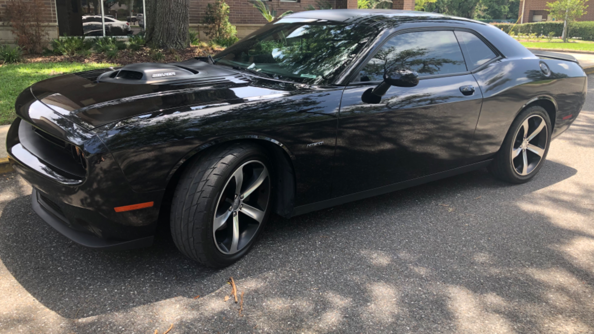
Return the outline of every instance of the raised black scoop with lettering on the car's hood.
[[[192,84],[211,81],[214,78],[236,77],[224,68],[209,65],[198,59],[168,64],[141,62],[105,72],[97,77],[99,83],[122,84]]]

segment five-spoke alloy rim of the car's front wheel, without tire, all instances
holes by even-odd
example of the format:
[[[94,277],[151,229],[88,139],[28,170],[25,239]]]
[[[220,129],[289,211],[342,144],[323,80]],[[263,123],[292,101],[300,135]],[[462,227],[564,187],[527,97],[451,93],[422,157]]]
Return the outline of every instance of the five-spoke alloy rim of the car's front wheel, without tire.
[[[219,251],[241,251],[254,238],[270,200],[270,175],[266,166],[251,160],[233,172],[214,210],[213,238]]]

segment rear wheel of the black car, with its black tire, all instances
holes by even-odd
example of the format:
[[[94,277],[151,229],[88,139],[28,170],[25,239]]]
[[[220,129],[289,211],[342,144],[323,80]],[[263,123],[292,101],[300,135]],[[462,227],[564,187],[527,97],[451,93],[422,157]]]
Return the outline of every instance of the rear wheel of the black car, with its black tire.
[[[525,122],[529,126],[527,133]],[[546,131],[542,129],[530,140],[530,134],[538,130],[541,122],[545,123]],[[546,159],[551,145],[551,133],[551,119],[544,108],[530,106],[524,109],[511,123],[503,144],[501,144],[501,149],[488,166],[489,171],[498,179],[514,184],[530,181],[541,169]],[[515,154],[518,155],[512,157]],[[525,164],[525,162],[528,163]],[[524,169],[525,165],[526,169]]]

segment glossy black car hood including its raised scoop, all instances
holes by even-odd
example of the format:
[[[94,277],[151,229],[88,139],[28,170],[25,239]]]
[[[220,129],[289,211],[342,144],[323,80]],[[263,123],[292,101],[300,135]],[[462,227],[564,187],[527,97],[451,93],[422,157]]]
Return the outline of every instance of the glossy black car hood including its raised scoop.
[[[61,75],[33,84],[31,93],[53,111],[92,130],[167,109],[274,98],[304,87],[191,59]],[[17,108],[27,120],[26,113]]]

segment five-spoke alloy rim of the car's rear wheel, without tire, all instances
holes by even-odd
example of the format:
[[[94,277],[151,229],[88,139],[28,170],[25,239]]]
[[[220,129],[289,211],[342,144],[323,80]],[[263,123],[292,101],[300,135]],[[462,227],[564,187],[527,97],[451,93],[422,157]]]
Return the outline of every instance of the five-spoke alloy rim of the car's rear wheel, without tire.
[[[517,174],[526,176],[538,167],[545,155],[547,139],[544,118],[532,115],[522,122],[511,147],[511,165]]]

